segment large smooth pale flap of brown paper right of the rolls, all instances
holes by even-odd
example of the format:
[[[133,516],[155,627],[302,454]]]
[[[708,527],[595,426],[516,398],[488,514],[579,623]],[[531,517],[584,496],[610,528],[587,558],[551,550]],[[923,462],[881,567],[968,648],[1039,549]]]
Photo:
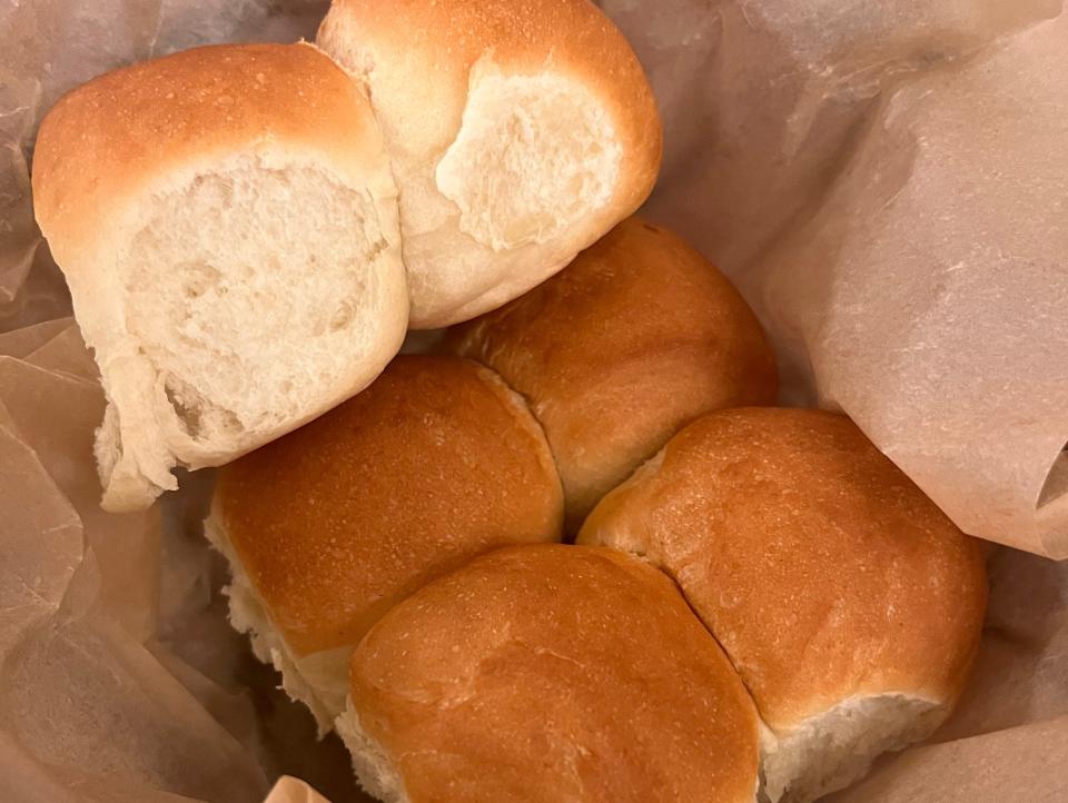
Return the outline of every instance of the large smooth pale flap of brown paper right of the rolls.
[[[955,75],[899,90],[825,219],[782,249],[769,279],[782,288],[771,315],[804,330],[811,310],[791,303],[789,288],[807,264],[833,254],[819,313],[834,346],[813,360],[821,398],[967,532],[1055,557],[1068,555],[1056,536],[1068,523],[1039,519],[1037,505],[1068,435],[1059,357],[1068,329],[1057,313],[1068,274],[1047,199],[1068,177],[1039,156],[1068,136],[1049,111],[1066,90],[1021,68],[1038,48],[1048,57],[1041,68],[1056,71],[1064,33],[1062,20],[1044,23]],[[989,135],[975,128],[977,103]],[[1046,117],[1021,111],[1030,108]],[[908,180],[880,195],[869,176],[900,159],[907,141],[916,143]],[[1011,163],[988,170],[990,158]],[[1013,219],[1006,206],[1028,211]],[[854,222],[841,222],[849,214]]]

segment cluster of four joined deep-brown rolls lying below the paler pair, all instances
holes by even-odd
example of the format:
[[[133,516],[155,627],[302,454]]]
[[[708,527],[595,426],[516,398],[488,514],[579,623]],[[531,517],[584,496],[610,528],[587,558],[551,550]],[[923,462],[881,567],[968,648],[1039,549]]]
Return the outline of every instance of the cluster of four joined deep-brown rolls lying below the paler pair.
[[[443,348],[224,468],[209,522],[369,792],[805,802],[952,710],[979,547],[848,418],[739,406],[771,353],[678,237],[627,220]]]

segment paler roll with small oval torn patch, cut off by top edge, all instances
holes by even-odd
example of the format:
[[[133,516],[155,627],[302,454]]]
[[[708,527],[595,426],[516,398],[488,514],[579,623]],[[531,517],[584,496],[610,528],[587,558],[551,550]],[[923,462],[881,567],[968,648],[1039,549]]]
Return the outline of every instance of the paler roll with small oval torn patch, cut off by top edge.
[[[525,293],[655,181],[652,91],[589,0],[335,0],[316,41],[382,123],[415,328]]]

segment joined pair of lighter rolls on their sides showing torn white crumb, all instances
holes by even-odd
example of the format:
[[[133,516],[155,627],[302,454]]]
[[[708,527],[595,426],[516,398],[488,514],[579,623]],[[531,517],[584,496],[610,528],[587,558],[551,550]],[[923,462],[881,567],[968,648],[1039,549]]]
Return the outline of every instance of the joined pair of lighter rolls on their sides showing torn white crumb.
[[[337,0],[316,44],[100,76],[34,210],[108,397],[108,509],[355,396],[406,328],[522,295],[645,200],[661,122],[589,0]]]

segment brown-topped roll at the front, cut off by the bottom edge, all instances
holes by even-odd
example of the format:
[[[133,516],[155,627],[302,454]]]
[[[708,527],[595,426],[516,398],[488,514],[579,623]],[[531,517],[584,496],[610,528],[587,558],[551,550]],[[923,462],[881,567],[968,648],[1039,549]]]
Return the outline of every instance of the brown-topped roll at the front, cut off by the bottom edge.
[[[607,549],[484,555],[387,613],[338,733],[388,803],[752,803],[758,717],[674,584]]]

